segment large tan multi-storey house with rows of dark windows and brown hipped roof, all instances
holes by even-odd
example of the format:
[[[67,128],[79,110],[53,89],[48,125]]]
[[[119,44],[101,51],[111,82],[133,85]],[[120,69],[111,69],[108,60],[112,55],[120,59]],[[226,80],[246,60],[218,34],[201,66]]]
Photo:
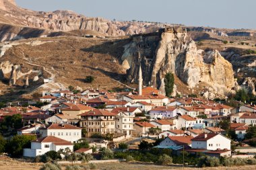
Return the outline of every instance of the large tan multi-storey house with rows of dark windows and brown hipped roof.
[[[79,126],[86,128],[86,137],[92,134],[115,134],[115,114],[106,110],[94,109],[84,114],[79,114]]]

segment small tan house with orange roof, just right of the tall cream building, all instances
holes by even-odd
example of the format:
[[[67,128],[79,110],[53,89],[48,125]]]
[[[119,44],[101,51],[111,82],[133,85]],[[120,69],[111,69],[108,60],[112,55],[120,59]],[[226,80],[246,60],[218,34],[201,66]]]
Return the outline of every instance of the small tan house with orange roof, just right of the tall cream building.
[[[155,128],[153,124],[149,122],[135,122],[134,124],[134,136],[146,136],[149,133],[150,128]]]

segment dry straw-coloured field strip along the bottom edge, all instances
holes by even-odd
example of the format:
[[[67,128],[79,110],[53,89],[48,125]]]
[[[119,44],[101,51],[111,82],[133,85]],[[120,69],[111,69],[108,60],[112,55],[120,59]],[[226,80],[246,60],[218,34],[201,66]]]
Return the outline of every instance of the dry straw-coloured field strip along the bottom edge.
[[[24,160],[19,159],[0,159],[0,170],[38,170],[42,166],[42,163],[28,163]],[[89,169],[88,165],[79,165],[83,169]],[[99,163],[96,164],[96,169],[104,169],[104,170],[154,170],[154,169],[183,169],[180,165],[152,165],[150,163]],[[65,169],[65,165],[62,166],[62,169]],[[247,169],[256,169],[255,165],[245,165],[243,167],[207,167],[207,168],[196,168],[196,167],[185,167],[186,170],[192,170],[192,169],[207,169],[207,170],[233,170],[233,169],[241,169],[241,170],[247,170]]]

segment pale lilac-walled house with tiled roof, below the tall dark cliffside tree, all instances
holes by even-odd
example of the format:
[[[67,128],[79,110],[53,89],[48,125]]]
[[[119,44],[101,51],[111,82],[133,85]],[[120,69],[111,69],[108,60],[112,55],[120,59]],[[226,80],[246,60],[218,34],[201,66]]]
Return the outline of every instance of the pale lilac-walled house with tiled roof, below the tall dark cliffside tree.
[[[166,119],[166,118],[173,118],[177,116],[177,108],[176,107],[156,107],[149,111],[150,118],[152,119]]]

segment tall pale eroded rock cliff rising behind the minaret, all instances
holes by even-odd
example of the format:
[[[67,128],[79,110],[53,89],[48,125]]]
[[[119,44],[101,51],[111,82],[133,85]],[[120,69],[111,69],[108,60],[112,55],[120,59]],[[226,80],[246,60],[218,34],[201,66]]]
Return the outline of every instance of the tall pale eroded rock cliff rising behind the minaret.
[[[234,86],[232,65],[220,53],[197,50],[182,28],[166,28],[154,34],[134,36],[122,56],[127,80],[137,81],[139,65],[144,85],[164,89],[164,75],[171,72],[193,89],[200,83],[224,95]]]

